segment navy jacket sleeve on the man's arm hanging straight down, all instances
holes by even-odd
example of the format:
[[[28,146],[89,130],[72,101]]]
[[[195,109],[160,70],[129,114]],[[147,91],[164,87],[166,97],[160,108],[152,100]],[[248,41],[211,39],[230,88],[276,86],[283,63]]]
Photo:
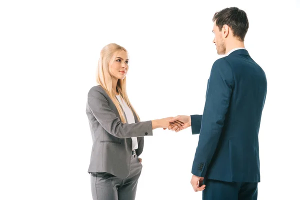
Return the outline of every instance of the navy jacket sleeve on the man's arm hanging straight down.
[[[211,68],[202,116],[198,146],[191,173],[204,177],[216,149],[233,88],[233,75],[229,63],[220,58]]]

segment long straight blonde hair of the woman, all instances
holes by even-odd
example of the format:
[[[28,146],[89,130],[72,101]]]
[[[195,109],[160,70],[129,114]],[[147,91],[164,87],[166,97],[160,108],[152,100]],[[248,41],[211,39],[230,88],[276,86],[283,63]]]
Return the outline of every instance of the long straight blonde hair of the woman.
[[[98,67],[96,72],[96,81],[99,85],[101,85],[114,105],[116,106],[116,109],[121,117],[121,121],[123,123],[126,122],[124,112],[121,108],[121,105],[119,101],[117,100],[116,96],[114,95],[114,92],[112,90],[112,75],[109,72],[110,63],[112,60],[115,59],[117,52],[120,52],[124,50],[127,52],[127,50],[116,44],[116,43],[110,43],[104,46],[100,52],[100,58],[98,61]],[[133,106],[131,105],[129,98],[127,96],[126,92],[126,77],[124,79],[118,79],[116,83],[116,90],[119,93],[119,95],[124,99],[126,104],[129,106],[129,108],[132,110],[133,113],[135,113],[138,121],[140,121],[139,116],[137,115],[136,111],[134,110]]]

